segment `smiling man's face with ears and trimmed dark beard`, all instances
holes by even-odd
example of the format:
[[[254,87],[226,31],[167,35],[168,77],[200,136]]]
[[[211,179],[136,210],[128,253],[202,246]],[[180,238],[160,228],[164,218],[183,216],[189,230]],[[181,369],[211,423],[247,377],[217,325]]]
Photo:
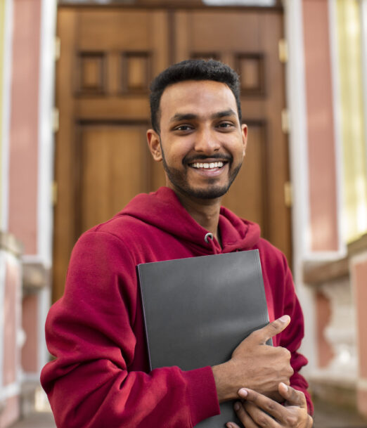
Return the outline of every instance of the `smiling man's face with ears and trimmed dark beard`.
[[[226,193],[242,164],[246,138],[231,89],[211,80],[168,86],[160,100],[160,135],[148,131],[167,186],[200,199]]]

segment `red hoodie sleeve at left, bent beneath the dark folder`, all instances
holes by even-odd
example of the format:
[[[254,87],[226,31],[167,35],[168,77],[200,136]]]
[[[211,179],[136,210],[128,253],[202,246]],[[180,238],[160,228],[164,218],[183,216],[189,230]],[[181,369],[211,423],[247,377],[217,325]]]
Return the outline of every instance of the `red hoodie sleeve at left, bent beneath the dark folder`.
[[[58,428],[191,428],[219,414],[210,367],[130,371],[139,304],[136,267],[122,241],[88,232],[77,242],[65,294],[46,320],[55,357],[41,372]]]

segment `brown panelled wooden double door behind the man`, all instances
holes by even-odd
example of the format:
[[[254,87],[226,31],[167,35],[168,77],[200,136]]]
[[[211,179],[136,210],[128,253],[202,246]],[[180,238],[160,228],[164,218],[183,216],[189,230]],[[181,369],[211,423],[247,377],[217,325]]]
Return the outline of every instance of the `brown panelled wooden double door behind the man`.
[[[184,58],[210,56],[241,72],[249,147],[225,205],[257,221],[263,236],[290,257],[283,69],[277,57],[281,27],[281,12],[260,9],[59,8],[54,300],[63,294],[79,235],[137,193],[165,183],[146,145],[148,85]]]

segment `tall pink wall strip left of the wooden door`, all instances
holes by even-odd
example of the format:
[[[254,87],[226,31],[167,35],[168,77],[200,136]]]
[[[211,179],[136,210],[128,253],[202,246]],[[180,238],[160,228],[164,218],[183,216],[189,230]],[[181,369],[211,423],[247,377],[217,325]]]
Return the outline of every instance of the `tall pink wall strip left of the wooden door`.
[[[37,254],[41,0],[13,1],[8,228]]]

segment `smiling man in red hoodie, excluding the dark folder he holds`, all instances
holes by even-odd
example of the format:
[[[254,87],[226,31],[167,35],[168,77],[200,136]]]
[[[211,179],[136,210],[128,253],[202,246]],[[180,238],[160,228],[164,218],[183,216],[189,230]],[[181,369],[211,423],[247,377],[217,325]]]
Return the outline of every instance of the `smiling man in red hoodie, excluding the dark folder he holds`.
[[[136,196],[75,245],[65,294],[46,323],[56,359],[41,382],[56,423],[191,428],[238,399],[246,428],[311,428],[299,374],[307,361],[297,353],[303,318],[285,257],[259,238],[257,225],[221,207],[247,143],[238,76],[214,60],[188,60],[162,72],[151,90],[148,145],[167,187]],[[148,372],[136,265],[246,249],[259,249],[273,322],[223,364]],[[269,337],[274,346],[265,344]]]

